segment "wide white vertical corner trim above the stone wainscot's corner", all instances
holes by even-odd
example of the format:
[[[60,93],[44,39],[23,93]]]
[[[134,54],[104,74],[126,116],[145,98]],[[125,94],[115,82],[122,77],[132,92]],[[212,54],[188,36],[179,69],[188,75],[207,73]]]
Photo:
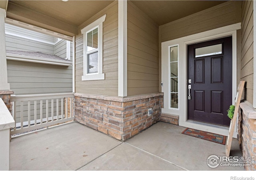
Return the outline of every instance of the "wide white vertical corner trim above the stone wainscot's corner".
[[[127,96],[127,0],[118,0],[118,96]]]

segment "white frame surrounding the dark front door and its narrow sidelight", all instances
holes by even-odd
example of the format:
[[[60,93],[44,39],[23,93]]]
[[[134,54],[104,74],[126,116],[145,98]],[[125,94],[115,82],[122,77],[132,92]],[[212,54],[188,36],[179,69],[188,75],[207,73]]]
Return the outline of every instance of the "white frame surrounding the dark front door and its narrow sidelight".
[[[234,99],[236,97],[236,86],[237,86],[237,33],[236,30],[241,29],[241,23],[236,23],[221,28],[216,28],[213,30],[208,30],[205,32],[200,32],[197,34],[192,34],[190,36],[169,40],[162,42],[162,92],[164,92],[164,108],[162,108],[162,113],[174,114],[179,116],[179,125],[187,128],[194,128],[197,130],[203,130],[207,132],[212,132],[216,134],[221,134],[228,136],[228,128],[223,126],[216,126],[210,124],[202,124],[197,122],[187,121],[187,46],[190,44],[195,44],[198,42],[205,42],[209,40],[214,40],[218,38],[224,38],[227,36],[232,36],[232,104],[234,104]],[[169,108],[169,47],[173,45],[178,45],[178,77],[179,77],[179,108],[173,109]],[[237,130],[235,130],[237,132]],[[237,133],[234,133],[233,137],[236,138]]]

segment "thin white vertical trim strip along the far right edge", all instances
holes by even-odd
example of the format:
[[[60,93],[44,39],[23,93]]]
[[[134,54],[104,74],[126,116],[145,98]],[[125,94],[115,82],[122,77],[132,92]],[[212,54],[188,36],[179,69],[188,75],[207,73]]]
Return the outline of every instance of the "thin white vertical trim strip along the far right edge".
[[[253,1],[253,107],[256,108],[256,2]]]

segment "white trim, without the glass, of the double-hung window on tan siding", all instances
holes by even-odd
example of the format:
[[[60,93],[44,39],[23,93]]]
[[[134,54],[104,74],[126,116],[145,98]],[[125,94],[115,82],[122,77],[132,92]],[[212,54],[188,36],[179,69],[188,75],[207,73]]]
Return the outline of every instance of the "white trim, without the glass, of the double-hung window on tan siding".
[[[92,22],[88,26],[81,29],[81,33],[84,35],[84,75],[82,81],[88,80],[104,80],[105,74],[103,73],[103,22],[106,19],[106,14],[96,21]],[[86,55],[86,44],[87,44],[87,32],[93,30],[98,26],[98,72],[93,74],[87,74],[87,55]]]

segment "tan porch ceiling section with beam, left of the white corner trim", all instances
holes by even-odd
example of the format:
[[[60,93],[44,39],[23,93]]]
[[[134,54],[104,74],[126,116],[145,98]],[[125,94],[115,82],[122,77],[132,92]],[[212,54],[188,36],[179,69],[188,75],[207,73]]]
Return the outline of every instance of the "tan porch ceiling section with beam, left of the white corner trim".
[[[32,24],[67,36],[114,0],[9,0],[7,18]]]

